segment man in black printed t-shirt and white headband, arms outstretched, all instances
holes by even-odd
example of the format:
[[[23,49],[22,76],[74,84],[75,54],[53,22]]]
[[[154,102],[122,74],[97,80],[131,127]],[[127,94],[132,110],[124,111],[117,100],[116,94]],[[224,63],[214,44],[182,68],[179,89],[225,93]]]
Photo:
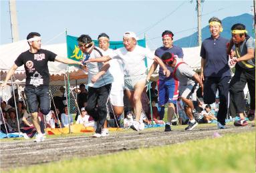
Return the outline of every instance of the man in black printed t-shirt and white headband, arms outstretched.
[[[35,142],[45,140],[43,134],[41,133],[39,119],[37,117],[38,104],[40,103],[39,107],[44,115],[49,114],[50,111],[48,61],[82,65],[82,63],[79,61],[59,57],[51,51],[41,49],[40,36],[41,35],[36,32],[31,32],[27,35],[29,50],[21,53],[19,57],[17,57],[13,66],[7,73],[5,81],[1,84],[1,88],[5,88],[7,81],[14,74],[15,70],[19,66],[24,65],[26,71],[26,84],[24,92],[27,98],[28,109],[31,113],[33,125],[37,130]]]

